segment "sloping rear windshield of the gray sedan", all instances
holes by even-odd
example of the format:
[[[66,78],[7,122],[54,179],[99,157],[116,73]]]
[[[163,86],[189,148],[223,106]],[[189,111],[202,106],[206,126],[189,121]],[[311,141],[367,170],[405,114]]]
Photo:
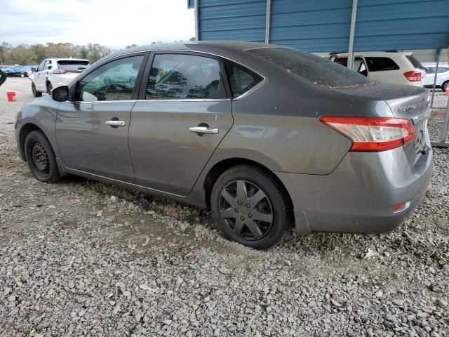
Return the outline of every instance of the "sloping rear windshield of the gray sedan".
[[[292,48],[259,48],[250,49],[248,52],[281,65],[289,72],[321,86],[337,88],[370,83],[363,75],[336,62]]]

